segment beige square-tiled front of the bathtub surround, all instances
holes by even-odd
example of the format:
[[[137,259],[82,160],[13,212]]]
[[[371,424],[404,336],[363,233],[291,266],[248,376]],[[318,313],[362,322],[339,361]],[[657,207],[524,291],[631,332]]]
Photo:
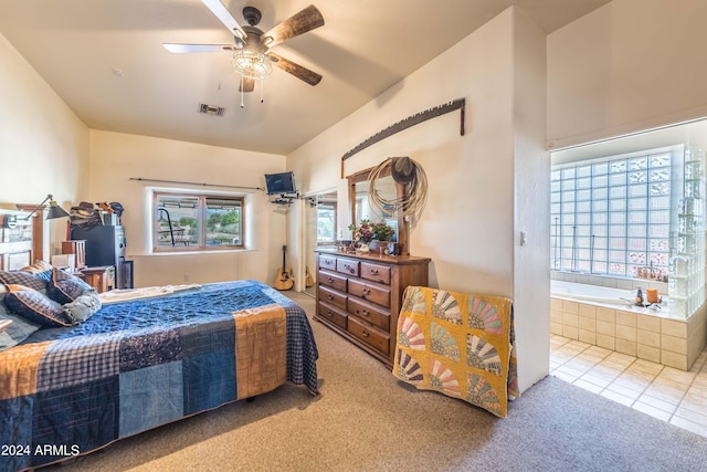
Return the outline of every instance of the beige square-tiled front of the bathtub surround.
[[[707,306],[689,319],[551,298],[550,333],[688,370],[707,344]]]

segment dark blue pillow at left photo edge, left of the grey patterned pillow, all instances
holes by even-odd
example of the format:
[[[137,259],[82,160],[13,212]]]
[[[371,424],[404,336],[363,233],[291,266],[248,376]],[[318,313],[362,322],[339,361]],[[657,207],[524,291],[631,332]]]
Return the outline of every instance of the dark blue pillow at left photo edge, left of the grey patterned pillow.
[[[14,313],[45,326],[71,326],[61,304],[24,285],[8,285],[4,303]]]

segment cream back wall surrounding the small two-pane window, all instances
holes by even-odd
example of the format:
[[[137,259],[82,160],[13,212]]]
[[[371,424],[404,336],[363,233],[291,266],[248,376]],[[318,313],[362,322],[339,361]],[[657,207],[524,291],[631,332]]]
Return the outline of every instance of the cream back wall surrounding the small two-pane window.
[[[171,180],[264,188],[264,175],[283,171],[285,157],[120,133],[91,132],[89,202],[118,201],[126,254],[133,259],[136,286],[256,279],[274,283],[282,265],[286,218],[262,190],[130,180]],[[151,189],[196,190],[246,198],[245,251],[208,254],[150,254]],[[188,279],[186,280],[186,274]]]

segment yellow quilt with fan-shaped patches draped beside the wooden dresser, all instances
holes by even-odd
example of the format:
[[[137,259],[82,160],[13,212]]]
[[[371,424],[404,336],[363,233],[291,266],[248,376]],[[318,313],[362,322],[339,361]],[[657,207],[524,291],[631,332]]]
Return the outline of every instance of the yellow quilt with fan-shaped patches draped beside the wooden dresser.
[[[520,396],[511,301],[409,286],[393,375],[506,418],[508,400]]]

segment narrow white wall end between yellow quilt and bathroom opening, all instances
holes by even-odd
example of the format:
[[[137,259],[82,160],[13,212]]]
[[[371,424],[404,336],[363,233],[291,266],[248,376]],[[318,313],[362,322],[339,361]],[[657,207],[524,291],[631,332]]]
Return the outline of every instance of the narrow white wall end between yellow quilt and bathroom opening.
[[[550,156],[546,136],[546,35],[520,12],[514,23],[515,244],[514,307],[523,377],[550,364]],[[521,234],[525,234],[523,238]],[[521,241],[521,238],[524,241]],[[528,379],[520,378],[521,386]]]

